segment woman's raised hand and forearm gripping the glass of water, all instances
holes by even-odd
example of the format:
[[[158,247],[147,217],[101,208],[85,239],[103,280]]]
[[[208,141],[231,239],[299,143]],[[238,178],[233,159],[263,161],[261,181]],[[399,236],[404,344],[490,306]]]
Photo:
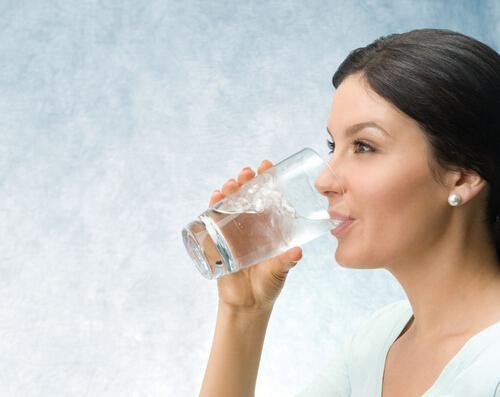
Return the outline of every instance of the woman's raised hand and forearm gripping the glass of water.
[[[272,167],[268,160],[257,169]],[[229,179],[216,190],[210,205],[236,192],[255,176],[244,168],[237,180]],[[264,337],[271,312],[288,272],[302,257],[293,247],[270,260],[217,279],[217,322],[200,396],[253,396]]]

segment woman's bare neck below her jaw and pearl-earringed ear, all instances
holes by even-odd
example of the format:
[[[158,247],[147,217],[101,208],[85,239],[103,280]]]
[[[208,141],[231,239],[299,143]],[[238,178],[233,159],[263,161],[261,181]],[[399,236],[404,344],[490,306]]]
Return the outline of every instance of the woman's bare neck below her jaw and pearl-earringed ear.
[[[455,241],[460,243],[448,240],[423,250],[427,254],[417,260],[387,266],[410,301],[410,330],[417,339],[474,334],[500,320],[500,264],[494,247],[485,236]]]

